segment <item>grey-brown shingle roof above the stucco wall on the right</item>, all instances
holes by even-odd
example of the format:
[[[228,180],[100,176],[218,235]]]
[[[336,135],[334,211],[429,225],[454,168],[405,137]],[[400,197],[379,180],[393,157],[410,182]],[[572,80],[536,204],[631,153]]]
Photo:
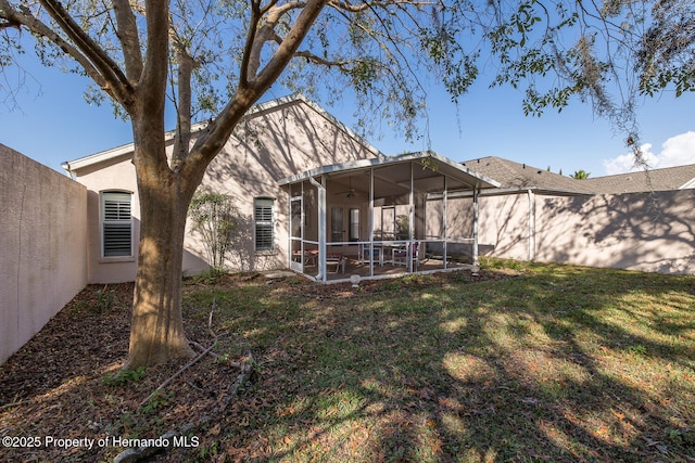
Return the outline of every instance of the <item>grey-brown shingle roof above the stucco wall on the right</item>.
[[[695,188],[695,164],[576,180],[496,156],[462,163],[497,180],[500,193],[534,190],[551,194],[619,194]]]

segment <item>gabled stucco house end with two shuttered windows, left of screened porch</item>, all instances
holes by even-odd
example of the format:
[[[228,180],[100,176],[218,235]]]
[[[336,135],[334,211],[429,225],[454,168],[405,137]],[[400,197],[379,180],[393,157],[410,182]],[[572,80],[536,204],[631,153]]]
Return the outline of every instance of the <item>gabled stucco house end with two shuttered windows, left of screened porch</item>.
[[[173,145],[173,137],[170,146]],[[232,271],[288,267],[288,193],[278,180],[326,164],[381,156],[369,143],[301,95],[254,107],[208,166],[201,189],[229,194],[239,210]],[[135,280],[139,207],[132,145],[63,165],[88,191],[90,283]],[[203,244],[187,232],[184,272],[208,267]]]

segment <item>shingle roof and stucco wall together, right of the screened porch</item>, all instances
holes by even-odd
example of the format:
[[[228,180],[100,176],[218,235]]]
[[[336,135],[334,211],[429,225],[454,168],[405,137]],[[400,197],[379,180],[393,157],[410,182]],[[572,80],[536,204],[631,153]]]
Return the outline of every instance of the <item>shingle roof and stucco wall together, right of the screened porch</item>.
[[[695,165],[574,180],[494,156],[463,164],[502,184],[481,193],[481,254],[695,273]],[[464,223],[471,201],[451,201]]]

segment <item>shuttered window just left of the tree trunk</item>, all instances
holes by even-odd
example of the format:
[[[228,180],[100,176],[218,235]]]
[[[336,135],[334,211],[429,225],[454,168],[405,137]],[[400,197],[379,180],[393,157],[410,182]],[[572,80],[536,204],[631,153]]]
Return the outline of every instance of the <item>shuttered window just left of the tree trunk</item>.
[[[132,194],[105,191],[101,194],[103,257],[132,257]]]

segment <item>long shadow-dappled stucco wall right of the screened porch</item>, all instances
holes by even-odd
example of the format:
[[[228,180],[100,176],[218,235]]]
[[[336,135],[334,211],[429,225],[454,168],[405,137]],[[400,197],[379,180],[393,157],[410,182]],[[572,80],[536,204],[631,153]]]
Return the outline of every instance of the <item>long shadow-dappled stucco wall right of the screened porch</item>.
[[[479,242],[503,258],[692,274],[693,204],[695,190],[481,197]]]

